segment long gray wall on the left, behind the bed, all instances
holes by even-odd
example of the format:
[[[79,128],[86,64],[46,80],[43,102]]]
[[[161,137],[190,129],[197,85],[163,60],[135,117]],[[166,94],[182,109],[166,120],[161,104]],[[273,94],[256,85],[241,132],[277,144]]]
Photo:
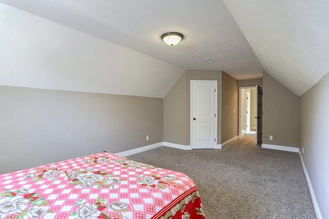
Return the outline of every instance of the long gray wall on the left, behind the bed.
[[[163,99],[0,86],[0,133],[0,173],[118,153],[163,141]]]

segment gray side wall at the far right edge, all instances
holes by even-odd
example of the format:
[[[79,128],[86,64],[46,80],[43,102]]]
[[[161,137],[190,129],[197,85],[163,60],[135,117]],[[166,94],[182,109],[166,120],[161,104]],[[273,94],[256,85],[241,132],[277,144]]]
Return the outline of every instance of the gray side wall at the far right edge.
[[[328,95],[329,74],[300,98],[300,151],[323,218],[329,218]]]

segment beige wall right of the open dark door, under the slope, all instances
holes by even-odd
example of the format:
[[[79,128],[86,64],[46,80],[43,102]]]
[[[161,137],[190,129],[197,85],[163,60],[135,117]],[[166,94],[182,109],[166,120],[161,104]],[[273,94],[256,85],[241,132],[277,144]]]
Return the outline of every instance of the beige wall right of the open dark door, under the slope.
[[[263,143],[298,148],[299,127],[299,97],[263,72]]]

